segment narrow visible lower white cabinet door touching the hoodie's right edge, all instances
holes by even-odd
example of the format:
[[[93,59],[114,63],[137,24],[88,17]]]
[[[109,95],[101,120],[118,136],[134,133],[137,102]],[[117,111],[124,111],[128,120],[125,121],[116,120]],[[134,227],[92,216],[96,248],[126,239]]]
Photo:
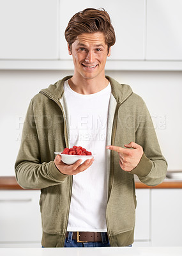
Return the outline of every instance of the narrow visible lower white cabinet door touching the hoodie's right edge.
[[[150,190],[151,189],[136,189],[137,208],[134,240],[137,246],[141,246],[140,243],[148,244],[150,241]]]

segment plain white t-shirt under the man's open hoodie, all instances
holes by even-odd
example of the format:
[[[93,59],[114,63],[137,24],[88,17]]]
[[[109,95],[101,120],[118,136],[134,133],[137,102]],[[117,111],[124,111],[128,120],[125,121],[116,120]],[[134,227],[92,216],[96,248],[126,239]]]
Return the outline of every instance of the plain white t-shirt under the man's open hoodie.
[[[102,91],[83,95],[64,82],[68,106],[70,147],[81,146],[96,154],[93,164],[73,175],[67,231],[106,232],[106,138],[110,83]]]

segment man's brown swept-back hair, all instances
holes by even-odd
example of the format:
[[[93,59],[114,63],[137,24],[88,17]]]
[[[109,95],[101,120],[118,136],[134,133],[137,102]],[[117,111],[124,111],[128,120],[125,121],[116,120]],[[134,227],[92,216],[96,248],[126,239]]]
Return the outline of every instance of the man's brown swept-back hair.
[[[108,50],[110,46],[115,44],[114,28],[110,22],[109,14],[103,8],[102,10],[87,8],[73,15],[68,22],[64,36],[71,48],[78,35],[95,32],[102,32],[105,35],[105,44],[107,44]]]

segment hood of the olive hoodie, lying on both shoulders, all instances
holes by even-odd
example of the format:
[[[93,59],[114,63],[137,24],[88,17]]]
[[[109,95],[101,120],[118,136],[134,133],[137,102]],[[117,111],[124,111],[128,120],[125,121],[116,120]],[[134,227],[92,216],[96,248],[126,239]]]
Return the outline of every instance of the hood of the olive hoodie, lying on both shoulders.
[[[105,76],[111,84],[112,87],[112,95],[116,99],[116,101],[121,104],[123,103],[130,95],[132,95],[132,88],[128,84],[119,84],[115,79],[109,76]],[[63,79],[57,81],[55,84],[50,84],[50,86],[46,89],[42,89],[40,93],[47,95],[50,99],[54,99],[59,101],[61,97],[63,97],[64,93],[64,81],[72,78],[72,76],[66,76]]]

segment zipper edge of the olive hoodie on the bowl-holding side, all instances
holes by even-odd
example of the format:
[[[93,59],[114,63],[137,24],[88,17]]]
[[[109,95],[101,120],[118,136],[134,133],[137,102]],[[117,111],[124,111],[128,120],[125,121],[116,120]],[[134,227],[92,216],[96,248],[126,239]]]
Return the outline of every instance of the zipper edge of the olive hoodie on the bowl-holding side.
[[[56,100],[54,97],[51,97],[49,93],[46,93],[46,92],[43,92],[43,91],[41,91],[40,93],[47,96],[49,99],[53,100],[54,102],[56,102],[56,104],[61,109],[61,111],[63,113],[63,120],[64,120],[64,134],[66,134],[66,138],[64,136],[64,140],[65,140],[65,143],[66,143],[66,147],[69,147],[69,145],[68,145],[68,132],[67,132],[67,126],[66,126],[66,118],[64,116],[64,111],[63,111],[63,107],[62,107],[61,103],[59,102],[59,100]],[[67,210],[67,213],[66,213],[66,228],[64,229],[64,239],[63,239],[63,242],[61,244],[61,246],[63,246],[63,247],[64,247],[64,241],[66,239],[66,231],[67,231],[67,227],[68,227],[68,217],[69,217],[70,204],[71,204],[71,198],[72,198],[72,186],[73,186],[73,176],[70,177],[70,193],[69,193],[69,201],[68,201],[68,210]]]

